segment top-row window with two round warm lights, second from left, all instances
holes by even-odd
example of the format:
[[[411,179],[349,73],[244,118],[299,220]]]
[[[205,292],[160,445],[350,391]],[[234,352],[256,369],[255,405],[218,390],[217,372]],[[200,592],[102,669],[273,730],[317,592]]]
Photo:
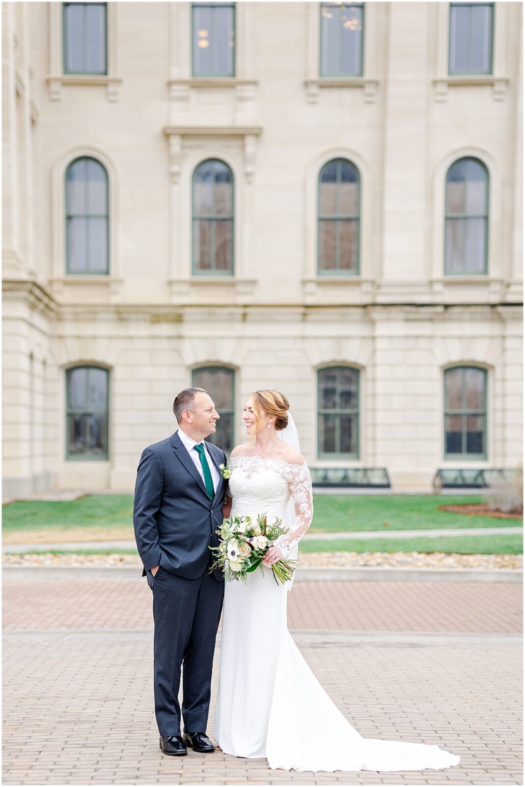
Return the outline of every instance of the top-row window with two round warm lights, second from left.
[[[193,3],[193,76],[235,76],[235,5]]]

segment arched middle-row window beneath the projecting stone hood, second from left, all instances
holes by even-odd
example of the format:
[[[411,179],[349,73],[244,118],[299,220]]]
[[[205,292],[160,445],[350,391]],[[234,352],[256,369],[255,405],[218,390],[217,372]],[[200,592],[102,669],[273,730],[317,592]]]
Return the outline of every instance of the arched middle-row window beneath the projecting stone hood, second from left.
[[[233,173],[217,159],[193,172],[193,273],[233,274]]]

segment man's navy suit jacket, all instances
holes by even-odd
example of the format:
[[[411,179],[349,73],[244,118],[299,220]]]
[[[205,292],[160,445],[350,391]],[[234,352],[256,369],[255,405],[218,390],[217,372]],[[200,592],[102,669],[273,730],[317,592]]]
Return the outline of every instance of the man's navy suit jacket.
[[[226,454],[206,442],[211,460],[226,465]],[[133,524],[138,553],[146,571],[162,566],[186,579],[204,574],[218,546],[226,484],[222,475],[210,500],[195,465],[177,432],[142,452],[138,464]],[[222,580],[222,571],[215,569]]]

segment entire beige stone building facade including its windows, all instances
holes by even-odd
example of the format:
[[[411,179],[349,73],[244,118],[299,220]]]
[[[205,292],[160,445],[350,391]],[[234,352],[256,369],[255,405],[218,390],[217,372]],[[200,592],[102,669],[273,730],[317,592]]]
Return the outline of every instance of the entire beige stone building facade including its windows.
[[[192,382],[395,490],[516,467],[521,4],[94,5],[2,5],[5,494],[132,490]]]

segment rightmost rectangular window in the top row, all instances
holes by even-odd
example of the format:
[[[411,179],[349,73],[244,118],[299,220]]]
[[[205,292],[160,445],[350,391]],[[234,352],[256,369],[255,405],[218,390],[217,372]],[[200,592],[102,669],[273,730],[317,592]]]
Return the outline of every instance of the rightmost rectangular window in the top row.
[[[492,73],[494,3],[450,3],[449,74]]]

